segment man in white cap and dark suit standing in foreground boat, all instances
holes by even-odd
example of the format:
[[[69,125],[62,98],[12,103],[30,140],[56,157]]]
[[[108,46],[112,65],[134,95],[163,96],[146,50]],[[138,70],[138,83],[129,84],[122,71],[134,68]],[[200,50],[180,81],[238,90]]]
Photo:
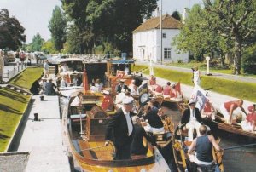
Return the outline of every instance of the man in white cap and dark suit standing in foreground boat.
[[[122,107],[108,122],[105,146],[108,146],[109,141],[113,140],[116,150],[115,160],[131,159],[131,141],[134,133],[131,117],[135,115],[132,112],[133,101],[132,97],[125,97]]]

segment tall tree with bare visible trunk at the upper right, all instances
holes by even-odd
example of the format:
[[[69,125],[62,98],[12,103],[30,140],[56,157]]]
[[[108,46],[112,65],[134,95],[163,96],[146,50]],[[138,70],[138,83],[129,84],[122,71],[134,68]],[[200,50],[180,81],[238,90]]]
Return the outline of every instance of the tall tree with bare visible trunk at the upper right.
[[[216,16],[219,35],[230,41],[234,54],[234,73],[241,74],[241,53],[244,46],[255,40],[256,2],[255,0],[204,0],[207,14]]]

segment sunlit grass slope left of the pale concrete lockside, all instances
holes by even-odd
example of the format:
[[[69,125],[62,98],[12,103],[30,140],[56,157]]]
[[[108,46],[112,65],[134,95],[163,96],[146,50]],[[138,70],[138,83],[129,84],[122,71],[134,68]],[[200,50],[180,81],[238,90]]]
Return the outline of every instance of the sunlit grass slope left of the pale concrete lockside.
[[[41,76],[42,67],[26,68],[9,83],[29,90],[32,83]],[[0,152],[3,152],[20,123],[31,95],[23,95],[13,89],[0,89]]]

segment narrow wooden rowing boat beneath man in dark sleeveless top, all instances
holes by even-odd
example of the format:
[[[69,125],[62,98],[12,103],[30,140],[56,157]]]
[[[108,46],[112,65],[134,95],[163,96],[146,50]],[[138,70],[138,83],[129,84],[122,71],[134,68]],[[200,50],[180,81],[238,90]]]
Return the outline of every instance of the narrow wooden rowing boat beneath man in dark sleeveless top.
[[[187,153],[189,146],[191,145],[191,141],[186,140],[186,137],[187,133],[177,126],[172,136],[172,151],[177,165],[177,170],[179,172],[192,171],[189,154]],[[220,140],[217,141],[219,142]],[[222,163],[223,155],[224,152],[217,152],[214,147],[212,147],[212,157],[214,161],[217,162],[221,171],[224,171],[224,165]]]

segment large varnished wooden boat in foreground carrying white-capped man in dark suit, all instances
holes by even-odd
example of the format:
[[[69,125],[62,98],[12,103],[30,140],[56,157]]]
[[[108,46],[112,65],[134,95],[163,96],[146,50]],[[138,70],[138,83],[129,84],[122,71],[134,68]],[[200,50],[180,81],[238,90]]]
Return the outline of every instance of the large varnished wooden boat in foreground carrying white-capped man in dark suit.
[[[146,156],[113,160],[114,147],[104,146],[105,129],[111,118],[111,112],[104,112],[99,106],[102,95],[86,93],[83,95],[82,106],[71,107],[69,105],[75,95],[70,96],[69,103],[64,107],[61,125],[67,152],[81,169],[84,171],[169,170],[158,149],[150,144]]]

